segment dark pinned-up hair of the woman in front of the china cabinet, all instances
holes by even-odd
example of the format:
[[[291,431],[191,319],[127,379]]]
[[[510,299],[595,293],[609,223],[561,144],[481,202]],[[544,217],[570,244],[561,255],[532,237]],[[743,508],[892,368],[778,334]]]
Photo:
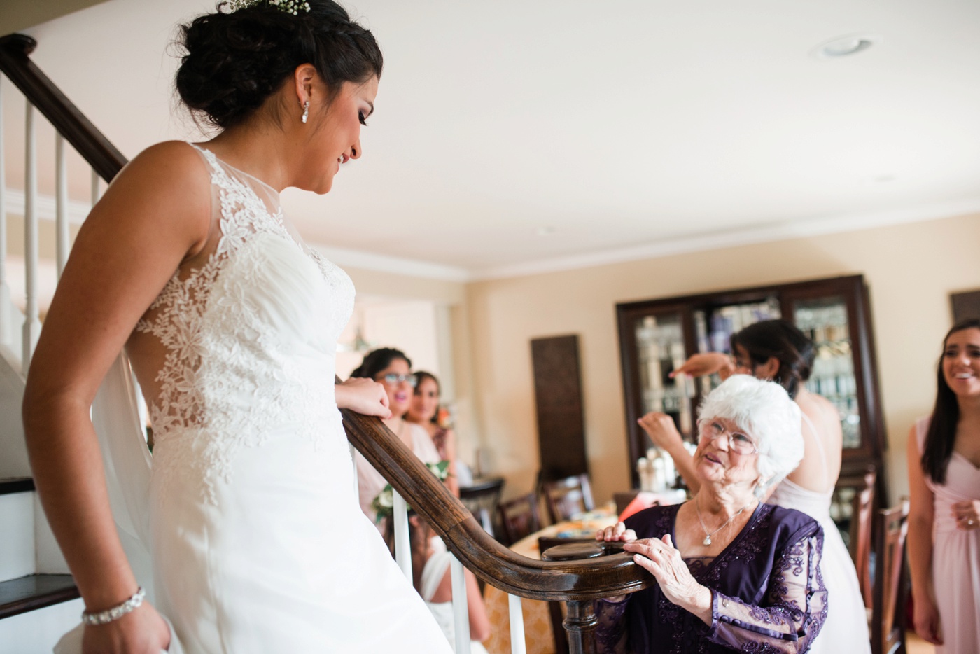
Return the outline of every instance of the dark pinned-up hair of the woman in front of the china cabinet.
[[[779,372],[774,381],[795,398],[813,369],[813,342],[788,321],[762,321],[732,334],[732,353],[742,346],[754,364],[760,366],[775,357]]]

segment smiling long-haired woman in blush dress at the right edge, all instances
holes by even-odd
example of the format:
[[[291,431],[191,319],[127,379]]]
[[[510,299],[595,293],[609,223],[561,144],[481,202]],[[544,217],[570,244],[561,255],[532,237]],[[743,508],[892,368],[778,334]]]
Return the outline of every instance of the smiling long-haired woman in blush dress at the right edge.
[[[950,329],[936,404],[908,434],[915,630],[937,654],[980,652],[980,320]]]

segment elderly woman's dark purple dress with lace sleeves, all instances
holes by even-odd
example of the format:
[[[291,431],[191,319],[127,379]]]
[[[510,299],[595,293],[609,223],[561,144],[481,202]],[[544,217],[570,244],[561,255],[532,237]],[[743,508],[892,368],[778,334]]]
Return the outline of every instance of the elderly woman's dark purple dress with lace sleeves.
[[[640,538],[669,533],[679,505],[653,507],[626,520]],[[668,601],[659,585],[599,600],[596,642],[604,653],[800,653],[809,650],[827,617],[820,576],[823,529],[809,516],[760,504],[717,557],[685,559],[711,588],[711,626]]]

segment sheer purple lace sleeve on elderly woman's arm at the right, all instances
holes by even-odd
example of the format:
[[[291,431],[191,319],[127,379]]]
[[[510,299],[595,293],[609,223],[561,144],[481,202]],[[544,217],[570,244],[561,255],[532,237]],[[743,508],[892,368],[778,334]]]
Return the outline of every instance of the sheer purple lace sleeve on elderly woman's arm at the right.
[[[738,651],[802,654],[827,617],[822,534],[799,540],[773,566],[762,606],[711,591],[711,642]]]

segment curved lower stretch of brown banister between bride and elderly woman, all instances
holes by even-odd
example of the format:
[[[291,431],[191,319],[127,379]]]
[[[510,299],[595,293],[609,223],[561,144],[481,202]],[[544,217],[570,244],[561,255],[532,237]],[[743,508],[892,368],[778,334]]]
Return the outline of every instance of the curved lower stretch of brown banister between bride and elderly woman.
[[[474,575],[509,593],[549,601],[586,600],[634,592],[654,579],[626,554],[583,561],[538,561],[504,547],[480,527],[459,499],[377,418],[342,410],[347,437],[381,475],[442,536]]]

